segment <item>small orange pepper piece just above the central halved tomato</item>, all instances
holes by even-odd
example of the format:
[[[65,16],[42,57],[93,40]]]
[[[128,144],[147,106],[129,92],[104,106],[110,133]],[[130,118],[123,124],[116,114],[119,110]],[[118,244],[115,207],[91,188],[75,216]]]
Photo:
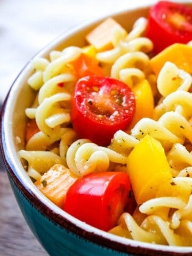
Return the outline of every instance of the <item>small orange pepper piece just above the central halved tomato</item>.
[[[104,75],[102,68],[98,65],[97,60],[85,53],[82,53],[79,58],[71,62],[71,64],[73,65],[78,78],[89,75]]]

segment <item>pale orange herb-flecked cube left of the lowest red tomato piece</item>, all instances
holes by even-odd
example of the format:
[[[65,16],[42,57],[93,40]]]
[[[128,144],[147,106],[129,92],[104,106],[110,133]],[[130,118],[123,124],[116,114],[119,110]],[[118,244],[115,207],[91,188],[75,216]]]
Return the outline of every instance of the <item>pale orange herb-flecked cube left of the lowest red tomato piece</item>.
[[[55,164],[35,182],[35,185],[47,198],[62,208],[67,190],[77,179],[78,177],[65,166]]]

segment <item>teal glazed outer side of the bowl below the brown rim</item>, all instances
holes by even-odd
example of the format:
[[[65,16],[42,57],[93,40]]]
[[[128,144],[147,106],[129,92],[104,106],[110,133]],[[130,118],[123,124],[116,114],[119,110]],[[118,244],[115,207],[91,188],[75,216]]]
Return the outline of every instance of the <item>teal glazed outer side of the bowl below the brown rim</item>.
[[[71,231],[61,227],[58,223],[54,223],[46,215],[31,203],[21,190],[18,189],[9,175],[9,180],[13,193],[28,226],[33,231],[38,241],[44,249],[52,256],[132,256],[133,254],[125,254],[111,250],[107,247],[100,246],[96,243],[88,241],[81,236],[77,236]]]

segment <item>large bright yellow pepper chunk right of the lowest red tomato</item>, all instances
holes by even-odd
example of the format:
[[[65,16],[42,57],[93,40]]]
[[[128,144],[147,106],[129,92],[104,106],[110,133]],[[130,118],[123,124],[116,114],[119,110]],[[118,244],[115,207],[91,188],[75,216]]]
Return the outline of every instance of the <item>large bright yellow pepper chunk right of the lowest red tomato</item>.
[[[127,172],[138,204],[156,197],[158,187],[172,178],[161,143],[146,135],[127,157]]]

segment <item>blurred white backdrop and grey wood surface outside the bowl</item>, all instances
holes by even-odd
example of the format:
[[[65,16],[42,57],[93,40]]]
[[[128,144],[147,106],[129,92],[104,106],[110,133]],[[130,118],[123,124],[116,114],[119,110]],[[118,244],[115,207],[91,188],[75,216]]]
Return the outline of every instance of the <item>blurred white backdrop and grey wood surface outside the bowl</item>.
[[[26,62],[55,37],[144,2],[156,0],[0,0],[0,105]],[[47,255],[23,219],[0,161],[0,255],[34,253]]]

